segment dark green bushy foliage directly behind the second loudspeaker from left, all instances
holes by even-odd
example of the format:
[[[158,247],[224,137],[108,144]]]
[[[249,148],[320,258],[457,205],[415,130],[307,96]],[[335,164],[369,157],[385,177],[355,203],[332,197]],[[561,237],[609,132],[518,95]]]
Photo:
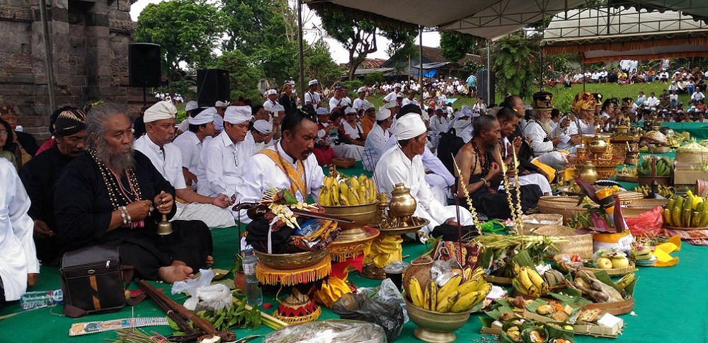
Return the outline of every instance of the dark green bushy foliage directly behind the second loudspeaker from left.
[[[251,57],[240,50],[224,52],[210,65],[211,68],[226,69],[230,71],[230,85],[232,100],[243,96],[246,99],[261,98],[258,83],[263,78],[263,70],[258,68]]]

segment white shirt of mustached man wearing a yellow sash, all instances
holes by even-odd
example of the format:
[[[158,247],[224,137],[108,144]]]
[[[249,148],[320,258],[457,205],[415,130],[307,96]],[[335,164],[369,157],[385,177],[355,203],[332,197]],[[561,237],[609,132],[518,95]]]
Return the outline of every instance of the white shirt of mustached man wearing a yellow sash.
[[[290,163],[290,165],[297,170],[297,161],[293,161],[290,156],[282,151],[280,142],[275,144],[275,146],[268,147],[268,150],[280,151],[282,161]],[[307,176],[307,178],[305,178],[307,189],[309,193],[312,194],[312,199],[317,202],[319,199],[319,188],[324,184],[324,172],[317,164],[317,158],[314,154],[308,156],[303,163],[305,169],[304,176]],[[256,153],[252,158],[249,158],[249,161],[246,161],[244,164],[244,173],[241,175],[241,178],[243,181],[241,185],[239,185],[236,194],[239,202],[259,202],[265,190],[270,189],[270,187],[275,187],[275,189],[278,190],[290,190],[290,179],[287,175],[282,173],[278,165],[275,165],[275,162],[273,162],[270,157],[262,153]],[[299,191],[293,194],[293,196],[295,196],[299,202],[304,202],[307,199],[307,194],[301,194]],[[251,222],[251,219],[246,216],[245,211],[241,213],[241,221],[244,223]]]

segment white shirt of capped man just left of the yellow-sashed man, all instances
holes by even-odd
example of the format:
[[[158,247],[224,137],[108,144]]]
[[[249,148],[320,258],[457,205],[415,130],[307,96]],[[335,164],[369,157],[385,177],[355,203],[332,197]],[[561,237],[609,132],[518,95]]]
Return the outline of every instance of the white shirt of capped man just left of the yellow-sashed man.
[[[234,144],[225,131],[208,141],[202,149],[197,168],[197,192],[206,197],[219,194],[231,197],[241,183],[241,167],[251,157],[250,153],[248,143],[241,141]]]

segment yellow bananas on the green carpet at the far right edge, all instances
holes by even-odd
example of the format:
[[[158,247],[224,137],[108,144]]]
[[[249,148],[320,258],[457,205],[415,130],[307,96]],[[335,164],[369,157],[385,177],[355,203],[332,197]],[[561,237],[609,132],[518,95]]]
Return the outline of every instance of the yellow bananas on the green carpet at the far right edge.
[[[675,228],[703,228],[708,225],[708,202],[691,191],[685,197],[673,197],[664,207],[663,221]]]

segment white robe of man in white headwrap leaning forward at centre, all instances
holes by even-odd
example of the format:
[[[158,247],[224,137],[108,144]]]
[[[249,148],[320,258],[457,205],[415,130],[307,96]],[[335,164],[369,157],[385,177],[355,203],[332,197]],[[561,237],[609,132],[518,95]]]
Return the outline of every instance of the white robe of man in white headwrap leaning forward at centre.
[[[421,229],[423,233],[430,233],[435,226],[445,223],[447,219],[457,218],[454,206],[443,206],[434,198],[433,191],[426,181],[426,170],[421,156],[415,156],[411,160],[399,147],[386,151],[376,165],[374,180],[377,190],[386,192],[388,199],[391,199],[391,190],[396,183],[403,183],[411,189],[411,195],[418,202],[413,215],[430,221],[428,226]],[[472,224],[472,216],[467,209],[460,207],[459,215],[462,225]]]

